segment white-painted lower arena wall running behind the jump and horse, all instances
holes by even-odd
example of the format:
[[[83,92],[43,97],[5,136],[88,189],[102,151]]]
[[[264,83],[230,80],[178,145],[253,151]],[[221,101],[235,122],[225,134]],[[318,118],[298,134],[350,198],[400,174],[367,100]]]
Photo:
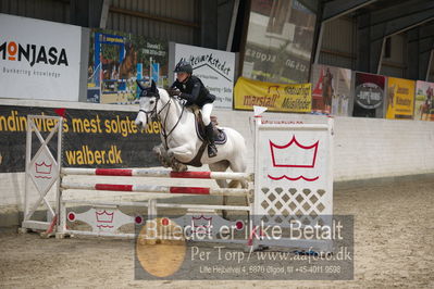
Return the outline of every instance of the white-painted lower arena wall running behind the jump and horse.
[[[72,102],[1,100],[0,104],[137,111],[134,105]],[[233,127],[245,136],[248,171],[252,172],[253,139],[249,125],[252,112],[215,110],[214,115],[221,126]],[[263,117],[303,123],[327,120],[320,115],[283,113],[264,113]],[[334,120],[335,181],[434,173],[434,123],[358,117]],[[24,173],[0,174],[0,216],[3,216],[0,226],[17,225],[17,212],[23,208]]]

